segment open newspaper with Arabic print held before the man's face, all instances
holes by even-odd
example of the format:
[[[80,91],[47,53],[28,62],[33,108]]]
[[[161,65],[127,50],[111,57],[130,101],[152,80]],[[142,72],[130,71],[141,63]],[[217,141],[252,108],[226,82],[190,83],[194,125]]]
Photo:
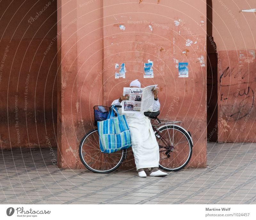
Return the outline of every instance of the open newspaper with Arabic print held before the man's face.
[[[122,114],[153,111],[154,94],[152,91],[156,88],[157,85],[145,88],[124,87],[123,96],[127,99],[122,101]]]

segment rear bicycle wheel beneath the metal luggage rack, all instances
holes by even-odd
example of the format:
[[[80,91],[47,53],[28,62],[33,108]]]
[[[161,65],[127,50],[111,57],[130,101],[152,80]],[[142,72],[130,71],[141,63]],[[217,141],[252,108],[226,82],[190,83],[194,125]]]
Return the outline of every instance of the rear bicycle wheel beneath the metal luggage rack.
[[[155,134],[159,145],[159,167],[164,171],[184,168],[192,155],[192,141],[186,131],[176,125],[166,125]]]

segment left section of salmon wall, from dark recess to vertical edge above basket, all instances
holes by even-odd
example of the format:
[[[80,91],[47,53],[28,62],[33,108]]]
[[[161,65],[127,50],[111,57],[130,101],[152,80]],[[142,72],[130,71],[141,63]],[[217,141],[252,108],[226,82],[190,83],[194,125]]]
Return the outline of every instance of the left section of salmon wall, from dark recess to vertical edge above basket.
[[[78,146],[102,94],[102,1],[58,1],[58,166],[84,168]],[[97,85],[96,85],[97,84]]]

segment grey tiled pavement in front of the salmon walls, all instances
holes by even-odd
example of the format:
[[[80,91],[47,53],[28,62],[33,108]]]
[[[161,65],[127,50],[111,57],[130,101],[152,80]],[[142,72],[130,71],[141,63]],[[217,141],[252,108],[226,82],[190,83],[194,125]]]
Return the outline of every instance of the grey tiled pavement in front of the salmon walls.
[[[0,150],[0,204],[256,204],[256,144],[208,144],[207,168],[139,178],[59,169],[48,149]]]

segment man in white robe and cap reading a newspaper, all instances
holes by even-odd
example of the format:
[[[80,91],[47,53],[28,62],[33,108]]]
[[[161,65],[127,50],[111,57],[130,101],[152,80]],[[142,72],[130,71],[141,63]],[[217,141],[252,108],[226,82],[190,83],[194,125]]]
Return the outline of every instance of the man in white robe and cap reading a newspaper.
[[[145,170],[151,171],[149,176],[167,175],[158,168],[159,146],[150,120],[144,115],[145,111],[160,109],[156,86],[141,88],[139,80],[133,80],[130,87],[124,88],[123,95],[112,102],[112,105],[122,105],[121,114],[125,115],[131,131],[132,151],[139,177],[147,177]]]

